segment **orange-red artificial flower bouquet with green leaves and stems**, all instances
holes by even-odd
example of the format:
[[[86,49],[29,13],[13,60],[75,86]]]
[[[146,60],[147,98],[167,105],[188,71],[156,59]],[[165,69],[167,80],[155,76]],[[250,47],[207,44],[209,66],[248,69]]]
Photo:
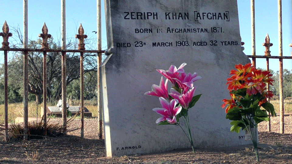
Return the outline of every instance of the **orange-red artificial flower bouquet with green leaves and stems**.
[[[247,130],[255,148],[255,156],[259,161],[257,149],[257,125],[269,121],[267,112],[276,116],[273,104],[267,98],[273,97],[271,91],[266,91],[266,84],[273,85],[272,74],[269,71],[257,70],[251,63],[235,65],[237,70],[231,70],[227,79],[231,99],[222,100],[226,106],[226,119],[231,120],[230,131],[239,133],[240,128]],[[264,108],[264,109],[261,109]]]

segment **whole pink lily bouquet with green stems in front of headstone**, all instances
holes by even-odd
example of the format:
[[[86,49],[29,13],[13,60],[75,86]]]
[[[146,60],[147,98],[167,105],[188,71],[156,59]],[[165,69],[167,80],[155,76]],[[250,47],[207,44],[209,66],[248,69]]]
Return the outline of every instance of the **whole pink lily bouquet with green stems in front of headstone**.
[[[158,125],[178,125],[182,131],[182,126],[180,125],[179,118],[182,118],[189,135],[186,136],[189,139],[189,142],[192,145],[194,150],[193,139],[191,135],[191,128],[189,125],[189,109],[192,108],[196,102],[199,100],[202,94],[194,96],[197,86],[193,86],[193,83],[196,80],[201,79],[202,77],[197,76],[197,73],[188,73],[186,74],[183,70],[183,67],[186,63],[177,69],[176,66],[171,65],[169,70],[157,70],[161,73],[166,80],[164,82],[163,77],[161,77],[160,85],[152,85],[152,91],[148,91],[145,95],[152,95],[159,97],[160,104],[162,108],[154,108],[153,111],[156,111],[158,114],[162,115],[161,118],[156,120]],[[167,89],[167,83],[170,81],[172,83],[172,88],[170,93]]]

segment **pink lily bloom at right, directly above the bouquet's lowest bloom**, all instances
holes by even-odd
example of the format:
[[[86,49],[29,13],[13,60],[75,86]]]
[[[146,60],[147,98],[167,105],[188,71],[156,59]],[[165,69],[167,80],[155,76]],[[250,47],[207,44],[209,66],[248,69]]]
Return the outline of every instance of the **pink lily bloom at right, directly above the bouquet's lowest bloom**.
[[[189,103],[192,101],[197,86],[192,87],[189,91],[186,89],[179,93],[175,89],[170,89],[170,96],[177,99],[182,108],[188,109]]]

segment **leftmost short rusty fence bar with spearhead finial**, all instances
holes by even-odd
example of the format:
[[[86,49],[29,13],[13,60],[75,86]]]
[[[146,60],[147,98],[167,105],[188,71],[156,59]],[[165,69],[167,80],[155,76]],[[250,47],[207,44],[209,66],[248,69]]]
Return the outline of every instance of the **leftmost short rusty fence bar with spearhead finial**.
[[[9,32],[9,26],[5,21],[0,32],[0,36],[3,37],[2,48],[9,48],[8,38],[12,36],[12,33]],[[5,128],[5,141],[8,141],[8,72],[7,72],[7,51],[4,51],[4,128]]]

